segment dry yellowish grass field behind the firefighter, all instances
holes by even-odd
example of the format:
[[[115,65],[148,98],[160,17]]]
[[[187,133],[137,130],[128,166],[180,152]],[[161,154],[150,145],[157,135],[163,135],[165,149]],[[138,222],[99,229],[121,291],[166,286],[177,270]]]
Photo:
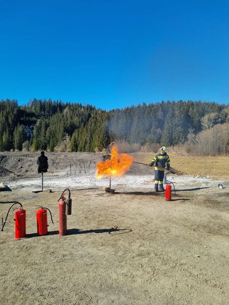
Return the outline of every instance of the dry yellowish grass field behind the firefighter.
[[[136,161],[149,164],[152,154],[131,154]],[[185,175],[199,175],[214,179],[229,179],[229,157],[186,157],[169,154],[170,165]],[[204,166],[205,164],[205,166]]]

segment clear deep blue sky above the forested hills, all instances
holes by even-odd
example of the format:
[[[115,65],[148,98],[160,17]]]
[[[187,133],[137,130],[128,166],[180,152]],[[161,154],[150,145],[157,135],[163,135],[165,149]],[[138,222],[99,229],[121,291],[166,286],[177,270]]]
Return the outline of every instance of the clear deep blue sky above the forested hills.
[[[0,0],[0,99],[229,103],[229,2]]]

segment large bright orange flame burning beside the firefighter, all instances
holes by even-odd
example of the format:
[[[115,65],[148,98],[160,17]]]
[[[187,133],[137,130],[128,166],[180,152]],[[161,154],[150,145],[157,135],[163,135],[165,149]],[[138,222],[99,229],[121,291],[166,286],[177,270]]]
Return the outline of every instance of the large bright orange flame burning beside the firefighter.
[[[111,148],[110,159],[100,161],[96,164],[96,177],[119,177],[130,169],[133,162],[133,157],[127,154],[119,154],[117,145]]]

